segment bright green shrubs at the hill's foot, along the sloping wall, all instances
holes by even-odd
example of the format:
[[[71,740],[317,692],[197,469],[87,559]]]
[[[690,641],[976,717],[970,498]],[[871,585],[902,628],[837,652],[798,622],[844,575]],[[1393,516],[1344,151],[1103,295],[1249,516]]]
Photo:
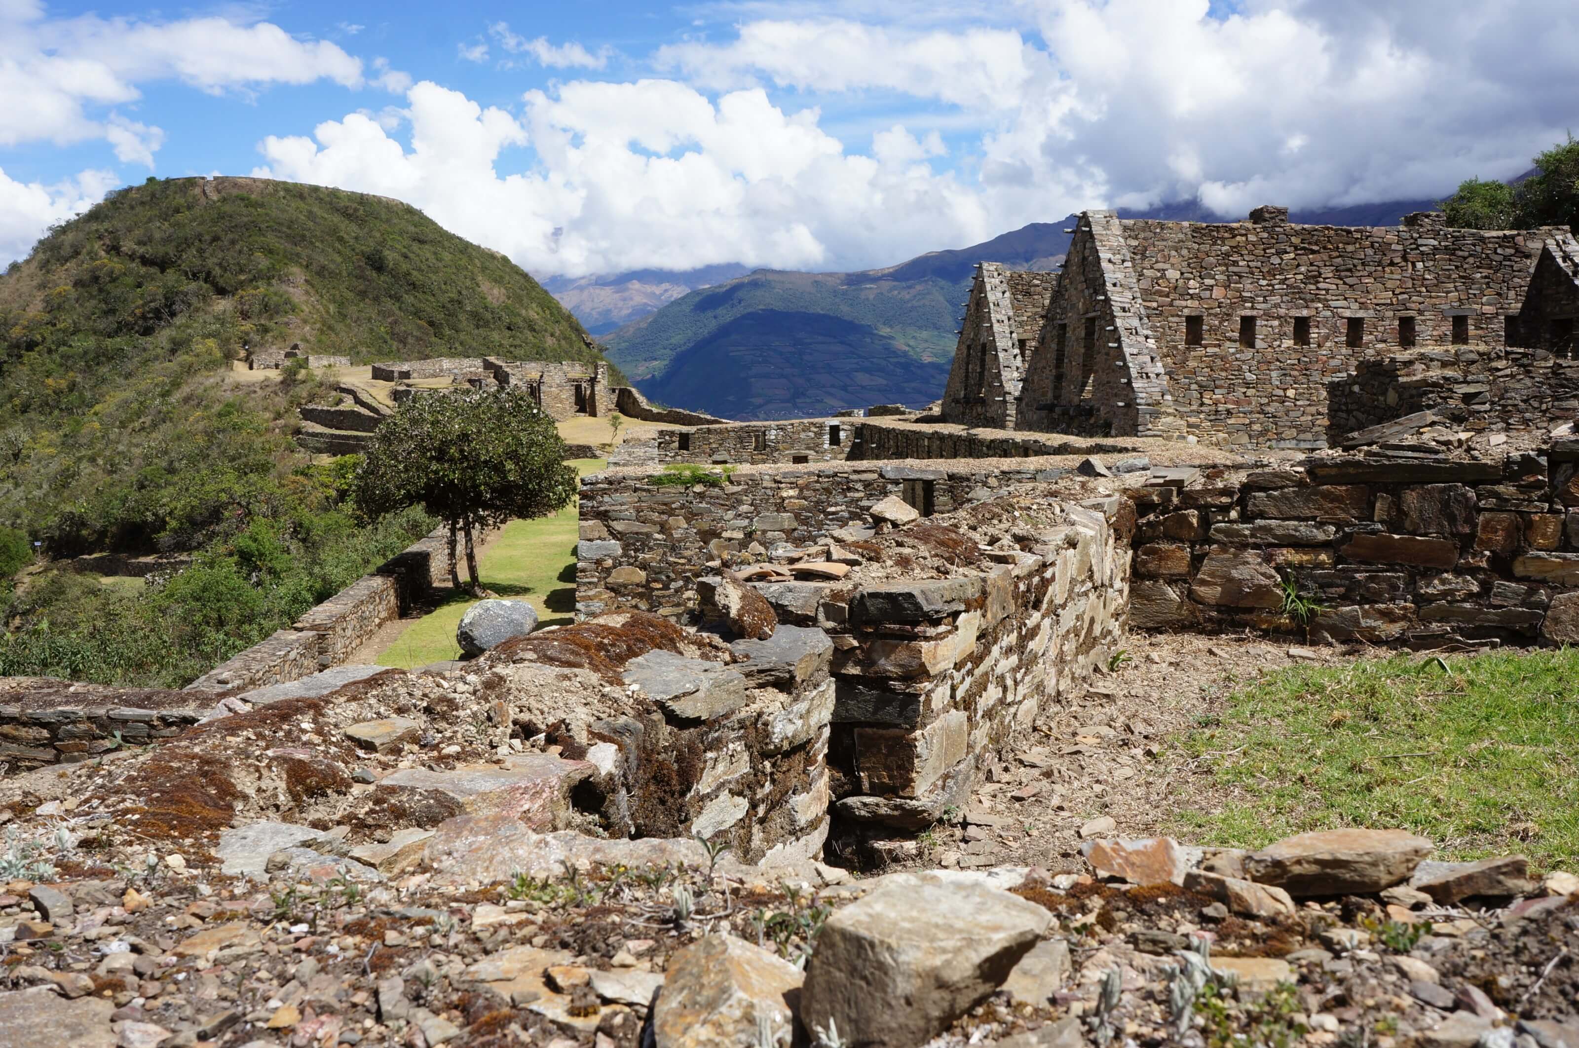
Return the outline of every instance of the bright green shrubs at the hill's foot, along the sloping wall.
[[[106,587],[92,575],[47,571],[5,609],[16,625],[0,633],[0,676],[182,687],[289,627],[433,524],[407,510],[358,526],[324,508],[257,518],[163,581]]]

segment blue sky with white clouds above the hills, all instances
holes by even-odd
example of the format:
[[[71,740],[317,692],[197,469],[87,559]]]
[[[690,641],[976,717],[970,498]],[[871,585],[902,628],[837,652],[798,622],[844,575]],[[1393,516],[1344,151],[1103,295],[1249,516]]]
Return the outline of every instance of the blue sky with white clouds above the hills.
[[[546,276],[1431,197],[1579,125],[1571,0],[0,0],[0,264],[107,189],[382,193]]]

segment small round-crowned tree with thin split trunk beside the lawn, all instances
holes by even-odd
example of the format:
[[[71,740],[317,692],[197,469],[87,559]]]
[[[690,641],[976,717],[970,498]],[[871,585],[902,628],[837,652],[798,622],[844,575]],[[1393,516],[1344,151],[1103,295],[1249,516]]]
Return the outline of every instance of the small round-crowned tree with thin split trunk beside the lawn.
[[[450,526],[450,584],[461,587],[456,535],[477,589],[478,529],[548,516],[576,496],[554,420],[518,390],[418,393],[373,434],[351,483],[365,516],[422,505]]]

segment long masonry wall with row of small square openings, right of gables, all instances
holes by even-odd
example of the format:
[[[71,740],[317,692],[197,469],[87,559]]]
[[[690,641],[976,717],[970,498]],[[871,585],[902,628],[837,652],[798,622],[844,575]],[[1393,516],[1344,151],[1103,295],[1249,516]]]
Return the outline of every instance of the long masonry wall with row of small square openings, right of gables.
[[[1266,208],[1276,211],[1276,208]],[[1328,388],[1366,355],[1450,346],[1467,316],[1468,344],[1503,347],[1546,230],[1486,234],[1423,221],[1397,229],[1292,226],[1287,215],[1235,224],[1126,219],[1145,309],[1168,388],[1189,432],[1228,447],[1320,448]],[[1187,317],[1202,317],[1198,346]],[[1241,344],[1241,317],[1254,336]],[[1295,336],[1307,317],[1309,338]],[[1350,319],[1363,325],[1348,344]]]

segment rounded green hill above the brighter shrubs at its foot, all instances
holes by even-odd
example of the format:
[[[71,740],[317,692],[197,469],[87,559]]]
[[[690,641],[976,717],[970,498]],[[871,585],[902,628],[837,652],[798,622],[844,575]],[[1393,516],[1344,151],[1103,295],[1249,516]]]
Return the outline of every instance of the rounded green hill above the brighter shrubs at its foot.
[[[196,548],[305,458],[314,390],[243,347],[352,363],[602,360],[504,256],[384,197],[261,178],[111,194],[0,276],[0,526],[54,552]]]

